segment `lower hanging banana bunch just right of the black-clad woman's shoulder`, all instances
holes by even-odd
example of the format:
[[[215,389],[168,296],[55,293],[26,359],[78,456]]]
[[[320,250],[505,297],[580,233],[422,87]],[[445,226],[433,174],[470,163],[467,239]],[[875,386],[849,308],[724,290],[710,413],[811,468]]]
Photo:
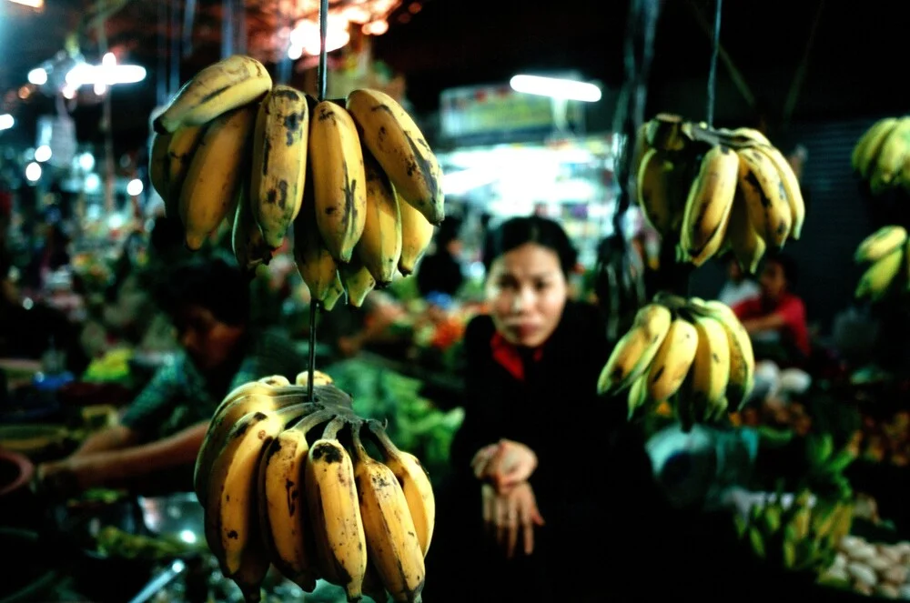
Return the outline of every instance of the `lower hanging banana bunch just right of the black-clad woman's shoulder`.
[[[630,420],[667,402],[688,430],[741,407],[754,374],[752,342],[730,307],[658,294],[613,347],[597,389],[628,390]]]

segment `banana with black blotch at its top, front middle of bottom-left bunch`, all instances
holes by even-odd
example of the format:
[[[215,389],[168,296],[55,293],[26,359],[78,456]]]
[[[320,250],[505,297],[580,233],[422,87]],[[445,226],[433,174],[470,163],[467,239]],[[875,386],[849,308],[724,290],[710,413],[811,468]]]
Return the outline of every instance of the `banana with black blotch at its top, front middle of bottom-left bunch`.
[[[333,419],[309,448],[303,484],[316,541],[319,574],[360,598],[367,570],[367,543],[360,518],[354,467],[338,439],[343,419]]]

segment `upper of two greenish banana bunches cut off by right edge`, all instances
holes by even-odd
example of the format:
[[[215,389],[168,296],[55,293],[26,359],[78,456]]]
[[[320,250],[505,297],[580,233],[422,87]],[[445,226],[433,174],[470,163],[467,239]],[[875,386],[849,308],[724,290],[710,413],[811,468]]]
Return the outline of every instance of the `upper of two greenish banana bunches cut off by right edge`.
[[[873,195],[899,187],[910,192],[910,116],[875,122],[856,142],[850,163]]]

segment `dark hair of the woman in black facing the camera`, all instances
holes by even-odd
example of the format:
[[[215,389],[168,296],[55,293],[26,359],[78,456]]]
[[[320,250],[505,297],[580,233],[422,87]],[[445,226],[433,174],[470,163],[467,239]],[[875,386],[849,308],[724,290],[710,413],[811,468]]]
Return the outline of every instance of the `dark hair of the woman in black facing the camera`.
[[[487,235],[483,246],[483,267],[487,273],[490,273],[493,260],[525,243],[550,249],[560,258],[562,274],[567,276],[578,260],[578,252],[558,223],[541,216],[513,217]]]

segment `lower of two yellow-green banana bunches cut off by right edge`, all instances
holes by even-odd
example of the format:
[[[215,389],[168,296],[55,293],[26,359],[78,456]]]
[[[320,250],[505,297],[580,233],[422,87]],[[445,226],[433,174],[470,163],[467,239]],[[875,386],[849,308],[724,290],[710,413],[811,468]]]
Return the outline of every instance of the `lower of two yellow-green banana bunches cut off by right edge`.
[[[856,247],[854,259],[857,263],[870,266],[860,277],[854,296],[857,299],[868,297],[877,302],[884,299],[897,286],[904,288],[908,272],[906,261],[908,245],[910,242],[907,241],[904,226],[882,226],[867,236]]]

